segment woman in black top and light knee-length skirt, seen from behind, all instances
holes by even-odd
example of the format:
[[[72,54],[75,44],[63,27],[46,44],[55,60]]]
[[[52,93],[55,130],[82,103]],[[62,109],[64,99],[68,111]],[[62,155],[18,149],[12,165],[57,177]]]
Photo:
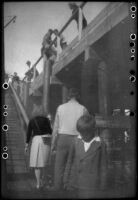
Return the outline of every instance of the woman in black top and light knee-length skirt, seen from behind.
[[[25,151],[27,151],[28,144],[31,143],[29,166],[34,168],[36,189],[40,189],[45,180],[45,167],[50,156],[51,134],[50,121],[44,115],[40,105],[29,121],[25,146]]]

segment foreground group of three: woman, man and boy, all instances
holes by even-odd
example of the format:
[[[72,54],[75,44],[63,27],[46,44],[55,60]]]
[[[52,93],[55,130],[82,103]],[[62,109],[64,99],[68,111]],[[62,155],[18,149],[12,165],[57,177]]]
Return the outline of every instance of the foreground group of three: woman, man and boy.
[[[30,146],[29,166],[34,169],[37,190],[73,189],[78,197],[89,198],[106,186],[106,145],[96,135],[95,117],[78,98],[78,90],[71,88],[68,101],[57,108],[53,127],[41,105],[28,124],[25,151]],[[46,179],[48,165],[54,165],[51,187]]]

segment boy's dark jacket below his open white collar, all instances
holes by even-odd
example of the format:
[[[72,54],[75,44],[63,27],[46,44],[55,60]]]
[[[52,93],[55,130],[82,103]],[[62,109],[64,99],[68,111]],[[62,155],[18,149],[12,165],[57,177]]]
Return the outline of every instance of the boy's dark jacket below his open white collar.
[[[70,150],[65,183],[77,189],[103,189],[106,183],[107,155],[103,142],[94,141],[84,151],[81,139],[76,138]]]

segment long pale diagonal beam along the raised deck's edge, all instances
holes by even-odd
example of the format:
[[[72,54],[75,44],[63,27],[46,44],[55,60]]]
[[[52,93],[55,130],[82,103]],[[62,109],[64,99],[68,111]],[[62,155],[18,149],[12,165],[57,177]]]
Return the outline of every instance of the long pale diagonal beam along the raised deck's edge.
[[[97,24],[93,22],[86,28],[80,42],[78,42],[78,39],[75,38],[76,44],[74,45],[76,45],[76,47],[72,47],[72,49],[70,48],[68,52],[66,52],[63,59],[54,65],[53,75],[56,75],[62,68],[67,66],[72,60],[79,56],[85,50],[87,45],[92,45],[105,33],[110,31],[114,26],[125,19],[128,14],[127,3],[111,3],[108,7],[104,8],[96,18],[98,19]]]

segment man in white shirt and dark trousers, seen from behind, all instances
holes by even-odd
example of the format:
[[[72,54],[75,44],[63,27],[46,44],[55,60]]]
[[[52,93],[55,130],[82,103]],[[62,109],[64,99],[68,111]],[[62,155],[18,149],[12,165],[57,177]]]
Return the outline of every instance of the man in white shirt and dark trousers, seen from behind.
[[[75,142],[75,138],[79,132],[76,129],[77,120],[84,114],[87,114],[87,109],[78,103],[77,98],[79,93],[77,89],[72,88],[69,91],[69,101],[60,105],[57,108],[55,123],[52,134],[51,150],[56,146],[56,160],[55,160],[55,174],[54,174],[54,188],[59,190],[63,186],[64,172],[66,162],[68,159],[70,147]]]

